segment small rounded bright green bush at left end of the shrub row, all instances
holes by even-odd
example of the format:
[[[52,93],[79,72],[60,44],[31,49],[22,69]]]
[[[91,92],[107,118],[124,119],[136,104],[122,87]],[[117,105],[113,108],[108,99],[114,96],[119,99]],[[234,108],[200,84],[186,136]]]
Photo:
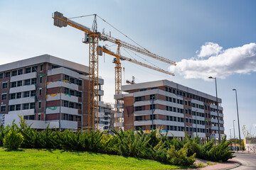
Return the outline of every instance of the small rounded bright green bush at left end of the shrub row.
[[[23,142],[23,136],[11,126],[11,130],[4,136],[4,147],[10,150],[18,149]]]

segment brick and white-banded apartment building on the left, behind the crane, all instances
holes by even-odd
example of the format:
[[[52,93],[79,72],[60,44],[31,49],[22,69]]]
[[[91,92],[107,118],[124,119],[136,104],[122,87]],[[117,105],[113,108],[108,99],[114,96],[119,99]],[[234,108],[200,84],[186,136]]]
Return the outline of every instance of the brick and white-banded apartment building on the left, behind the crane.
[[[85,65],[50,55],[0,65],[1,122],[26,119],[31,128],[80,129],[88,126],[88,71]],[[112,106],[103,103],[99,78],[95,128],[110,127]],[[113,115],[113,114],[112,114]]]

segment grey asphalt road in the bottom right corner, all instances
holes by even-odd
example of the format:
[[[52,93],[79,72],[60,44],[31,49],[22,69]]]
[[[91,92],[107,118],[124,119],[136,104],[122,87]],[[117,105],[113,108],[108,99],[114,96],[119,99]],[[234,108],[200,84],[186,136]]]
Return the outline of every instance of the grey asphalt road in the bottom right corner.
[[[234,159],[237,159],[242,165],[234,170],[256,169],[256,154],[235,154],[235,156]]]

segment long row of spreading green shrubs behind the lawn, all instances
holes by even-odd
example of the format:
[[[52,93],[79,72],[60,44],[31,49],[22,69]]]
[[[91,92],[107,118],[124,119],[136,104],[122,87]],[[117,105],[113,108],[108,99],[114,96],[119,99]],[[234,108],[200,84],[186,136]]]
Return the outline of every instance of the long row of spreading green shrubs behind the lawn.
[[[106,155],[105,157],[115,157],[114,159],[117,160],[114,161],[117,162],[119,162],[119,157],[113,155],[127,157],[126,160],[128,160],[128,157],[134,157],[134,160],[151,159],[144,161],[157,161],[157,164],[162,163],[165,166],[169,164],[194,167],[196,157],[213,162],[225,162],[234,157],[233,152],[228,149],[230,142],[227,142],[225,137],[219,145],[214,145],[213,140],[208,142],[206,145],[200,145],[198,137],[191,139],[191,137],[186,135],[186,139],[183,141],[178,140],[176,137],[174,137],[173,140],[169,140],[166,135],[161,135],[159,130],[152,130],[150,134],[146,134],[142,132],[142,130],[137,132],[133,132],[132,130],[125,132],[120,130],[117,132],[113,130],[113,132],[114,135],[107,135],[103,132],[99,132],[98,130],[90,130],[90,132],[73,132],[69,130],[58,131],[46,128],[46,130],[37,131],[26,125],[25,120],[21,118],[19,127],[13,123],[11,126],[0,128],[0,147],[6,147],[6,153],[15,153],[17,152],[15,149],[18,149],[19,147],[33,149],[64,149],[66,154],[79,153],[78,155],[87,155],[88,152],[91,152],[90,154],[94,152],[98,153],[94,155],[112,155]],[[70,152],[74,150],[77,152]],[[43,152],[44,150],[39,151]],[[58,152],[56,150],[55,154],[60,154]],[[22,155],[22,149],[21,152],[17,152],[17,154],[18,153]],[[55,154],[52,154],[53,157],[58,158],[59,156],[54,156]],[[82,160],[80,162],[81,164],[94,162],[93,160],[90,161],[90,159],[87,160],[86,157]],[[112,161],[112,158],[106,159],[105,161],[109,162],[110,160]],[[65,160],[60,160],[60,162],[65,162]],[[101,164],[100,161],[97,162]],[[125,164],[127,164],[127,162]],[[138,165],[138,167],[141,166]],[[150,167],[153,168],[154,166]],[[131,166],[131,168],[137,169],[136,166]],[[159,167],[157,168],[161,169]],[[177,168],[178,167],[175,167],[174,169]],[[111,169],[113,169],[113,167]],[[127,169],[129,169],[129,167],[127,167]],[[168,169],[171,169],[171,166]]]

